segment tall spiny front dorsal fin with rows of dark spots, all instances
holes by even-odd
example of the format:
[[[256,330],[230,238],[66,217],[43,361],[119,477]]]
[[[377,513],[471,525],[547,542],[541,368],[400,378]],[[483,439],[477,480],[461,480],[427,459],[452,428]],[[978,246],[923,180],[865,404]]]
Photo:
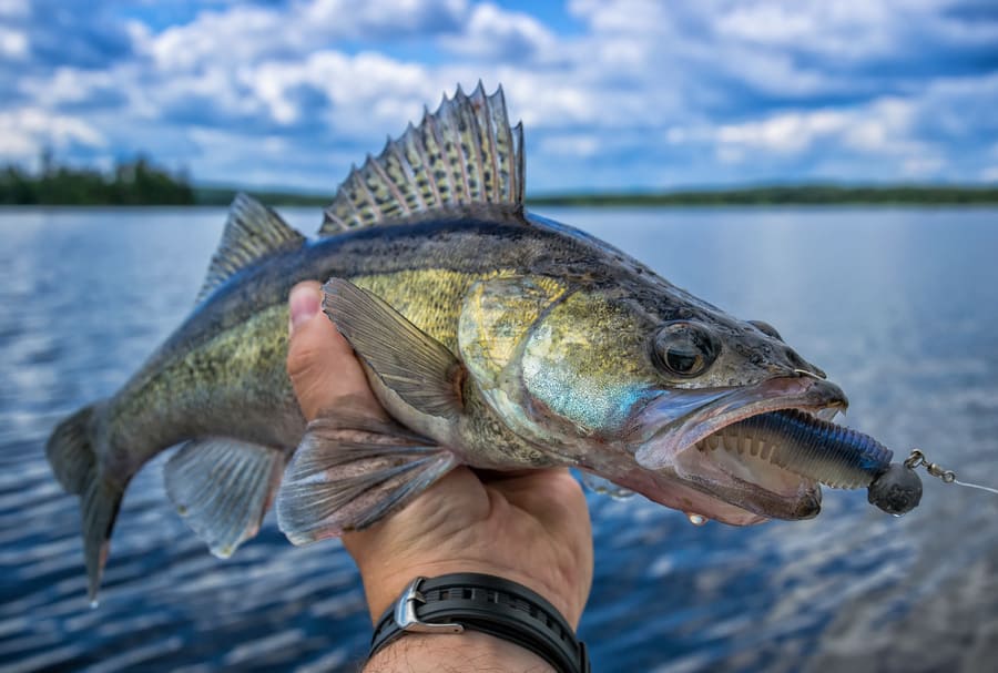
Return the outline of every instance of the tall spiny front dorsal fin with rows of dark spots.
[[[354,167],[326,208],[319,234],[332,236],[434,211],[469,206],[516,213],[523,205],[523,124],[510,128],[502,88],[458,86],[418,126],[389,140],[377,159]]]

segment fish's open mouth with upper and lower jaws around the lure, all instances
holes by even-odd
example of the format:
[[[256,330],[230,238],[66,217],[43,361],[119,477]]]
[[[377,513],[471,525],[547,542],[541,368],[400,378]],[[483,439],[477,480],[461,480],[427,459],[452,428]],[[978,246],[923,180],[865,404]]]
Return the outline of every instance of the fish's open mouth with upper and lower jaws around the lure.
[[[809,519],[821,511],[821,487],[814,479],[774,465],[766,455],[725,450],[732,441],[722,438],[740,421],[762,414],[793,409],[832,420],[847,406],[838,386],[809,376],[669,391],[638,416],[637,427],[646,429],[648,437],[638,438],[635,459],[642,468],[699,491],[697,511],[691,513],[736,524]]]

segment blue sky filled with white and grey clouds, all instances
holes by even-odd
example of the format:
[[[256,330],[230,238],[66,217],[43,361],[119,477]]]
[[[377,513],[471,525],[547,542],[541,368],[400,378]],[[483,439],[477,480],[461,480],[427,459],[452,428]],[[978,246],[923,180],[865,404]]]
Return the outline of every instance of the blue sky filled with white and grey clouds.
[[[332,194],[479,80],[528,194],[998,183],[995,0],[0,0],[0,163]]]

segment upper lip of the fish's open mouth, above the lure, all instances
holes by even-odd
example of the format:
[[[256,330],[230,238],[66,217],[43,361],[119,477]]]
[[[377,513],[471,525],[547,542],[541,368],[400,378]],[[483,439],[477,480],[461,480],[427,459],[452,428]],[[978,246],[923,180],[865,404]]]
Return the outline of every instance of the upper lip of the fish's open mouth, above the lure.
[[[661,426],[656,417],[669,418],[670,410],[659,408],[669,405],[652,401],[638,417],[639,427]],[[642,442],[635,452],[638,463],[646,469],[671,466],[675,458],[697,441],[750,416],[781,409],[801,409],[817,412],[836,408],[845,410],[848,399],[835,384],[805,376],[781,376],[766,379],[755,386],[719,389],[715,398],[690,414],[660,427]]]

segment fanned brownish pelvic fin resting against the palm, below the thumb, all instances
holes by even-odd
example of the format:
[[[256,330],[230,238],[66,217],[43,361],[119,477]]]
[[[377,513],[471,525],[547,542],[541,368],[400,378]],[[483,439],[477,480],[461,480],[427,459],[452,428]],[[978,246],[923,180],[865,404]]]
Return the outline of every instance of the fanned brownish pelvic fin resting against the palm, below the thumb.
[[[308,425],[277,494],[295,544],[363,530],[458,465],[449,450],[393,422],[342,415]]]

